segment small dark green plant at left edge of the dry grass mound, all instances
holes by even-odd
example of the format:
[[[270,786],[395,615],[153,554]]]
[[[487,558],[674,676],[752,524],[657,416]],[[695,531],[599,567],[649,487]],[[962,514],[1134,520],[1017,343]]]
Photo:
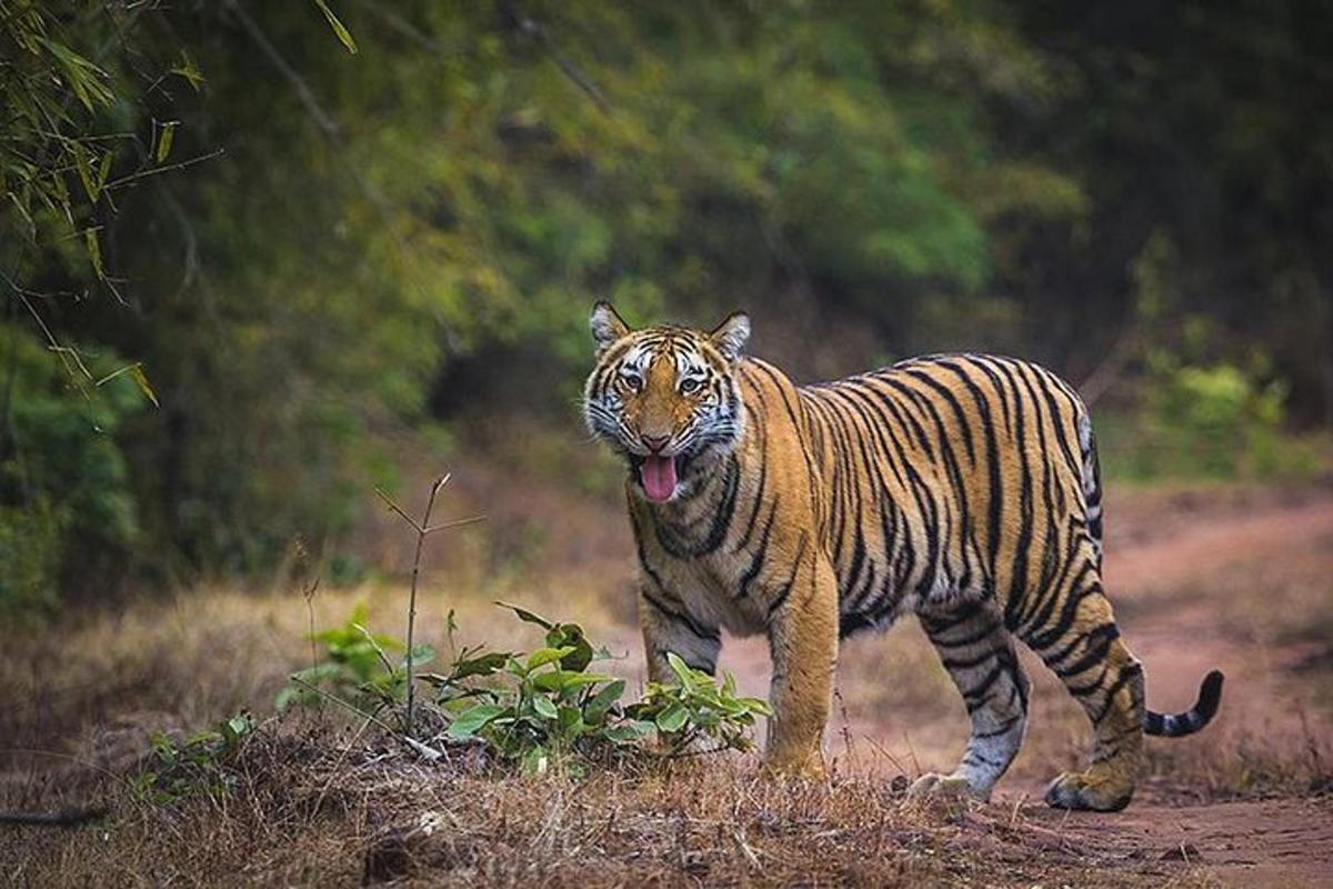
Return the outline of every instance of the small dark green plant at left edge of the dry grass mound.
[[[195,793],[227,796],[236,785],[231,761],[253,732],[255,720],[243,710],[216,729],[196,732],[184,741],[156,733],[151,738],[152,753],[133,780],[136,796],[159,805]]]

